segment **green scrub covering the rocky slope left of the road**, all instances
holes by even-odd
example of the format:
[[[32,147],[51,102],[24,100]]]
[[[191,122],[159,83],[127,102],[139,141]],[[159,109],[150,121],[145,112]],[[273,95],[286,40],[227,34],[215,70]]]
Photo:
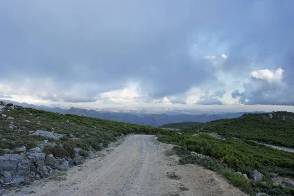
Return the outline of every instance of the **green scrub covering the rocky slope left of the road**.
[[[17,106],[17,109],[3,111],[0,115],[0,155],[7,153],[3,149],[13,149],[13,147],[25,146],[26,148],[38,147],[44,140],[62,144],[63,149],[56,145],[47,147],[45,152],[52,153],[58,157],[73,157],[74,149],[81,148],[89,151],[101,150],[108,147],[111,142],[117,141],[122,134],[165,134],[169,130],[143,126],[137,124],[101,120],[97,118],[77,116],[36,110],[32,108],[23,108]],[[12,117],[14,119],[7,119]],[[29,122],[25,122],[28,120]],[[9,126],[13,125],[13,129]],[[48,139],[41,136],[29,135],[36,130],[54,131],[62,134],[59,140]],[[83,156],[86,156],[86,152]]]

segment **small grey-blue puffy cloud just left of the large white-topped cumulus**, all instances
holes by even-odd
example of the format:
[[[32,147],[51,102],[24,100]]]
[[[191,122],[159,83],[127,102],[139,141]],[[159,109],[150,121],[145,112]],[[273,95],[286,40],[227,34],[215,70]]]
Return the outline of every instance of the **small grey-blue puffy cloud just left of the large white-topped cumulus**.
[[[223,95],[226,94],[225,90],[216,90],[213,94],[210,94],[209,91],[205,92],[205,95],[200,96],[200,100],[196,102],[199,105],[222,105],[223,103],[219,98],[223,98]]]

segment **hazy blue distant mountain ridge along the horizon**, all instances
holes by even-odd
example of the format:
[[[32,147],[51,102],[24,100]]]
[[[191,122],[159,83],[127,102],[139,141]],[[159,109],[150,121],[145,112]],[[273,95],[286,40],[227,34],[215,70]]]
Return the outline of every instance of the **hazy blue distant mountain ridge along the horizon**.
[[[113,111],[129,111],[132,113],[128,112],[112,112],[108,111],[109,108],[103,110],[100,109],[100,111],[97,110],[88,110],[88,109],[82,109],[82,108],[70,108],[69,110],[63,109],[60,107],[48,107],[48,106],[38,106],[38,105],[33,105],[33,104],[28,104],[28,103],[19,103],[15,101],[10,101],[10,100],[3,100],[7,103],[13,103],[14,105],[20,105],[23,107],[30,107],[34,109],[39,109],[39,110],[46,110],[50,112],[56,112],[56,113],[61,113],[61,114],[76,114],[80,116],[88,116],[88,117],[94,117],[94,118],[99,118],[99,119],[104,119],[104,120],[112,120],[112,121],[118,121],[118,122],[125,122],[125,123],[134,123],[134,124],[141,124],[141,125],[151,125],[154,127],[161,126],[163,124],[168,124],[168,123],[182,123],[182,122],[200,122],[200,123],[205,123],[205,122],[210,122],[210,121],[215,121],[219,119],[231,119],[231,118],[237,118],[241,117],[243,114],[248,113],[248,112],[238,112],[238,113],[224,113],[224,114],[200,114],[200,115],[192,115],[193,112],[197,112],[200,110],[186,110],[187,114],[182,114],[185,113],[185,111],[181,110],[171,110],[171,111],[166,111],[166,113],[162,114],[144,114],[145,112],[151,112],[152,109],[147,110],[138,110],[135,112],[134,110],[121,110],[113,108]],[[141,111],[141,112],[139,112]],[[249,112],[249,113],[265,113],[265,112]]]

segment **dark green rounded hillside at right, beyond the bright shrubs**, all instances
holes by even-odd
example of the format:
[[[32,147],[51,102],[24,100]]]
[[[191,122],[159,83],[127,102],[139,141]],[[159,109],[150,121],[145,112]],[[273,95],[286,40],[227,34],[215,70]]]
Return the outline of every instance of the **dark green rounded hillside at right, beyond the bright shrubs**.
[[[239,118],[222,119],[198,125],[185,129],[183,132],[217,133],[225,138],[244,138],[294,148],[294,113],[244,114]]]

